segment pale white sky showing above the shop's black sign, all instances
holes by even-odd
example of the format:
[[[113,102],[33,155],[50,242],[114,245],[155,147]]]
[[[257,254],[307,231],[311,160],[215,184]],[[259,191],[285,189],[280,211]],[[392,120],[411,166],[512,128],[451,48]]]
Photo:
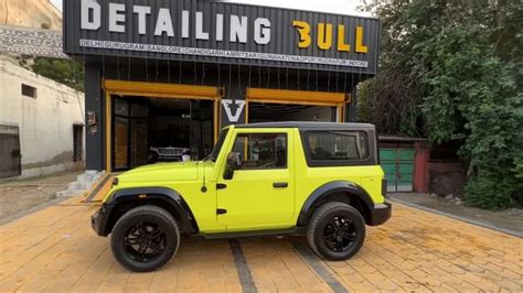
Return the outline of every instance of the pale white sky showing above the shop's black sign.
[[[62,10],[62,0],[51,0],[51,2]],[[357,7],[362,4],[362,0],[232,0],[228,2],[284,7],[351,15],[370,15],[369,13],[357,11]]]

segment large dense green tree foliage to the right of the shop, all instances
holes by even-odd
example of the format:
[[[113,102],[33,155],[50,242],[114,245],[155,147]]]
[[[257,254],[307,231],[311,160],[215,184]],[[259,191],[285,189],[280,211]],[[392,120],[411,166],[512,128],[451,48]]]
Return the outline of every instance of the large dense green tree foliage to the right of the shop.
[[[462,141],[470,205],[521,200],[523,3],[414,0],[371,9],[383,25],[381,73],[360,88],[360,117],[382,132]]]

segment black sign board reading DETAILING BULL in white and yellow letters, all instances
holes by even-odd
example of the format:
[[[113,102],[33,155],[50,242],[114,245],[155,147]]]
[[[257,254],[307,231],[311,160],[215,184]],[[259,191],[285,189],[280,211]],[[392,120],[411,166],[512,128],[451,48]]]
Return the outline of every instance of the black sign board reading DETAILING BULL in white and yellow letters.
[[[375,74],[376,19],[195,0],[65,0],[64,52]]]

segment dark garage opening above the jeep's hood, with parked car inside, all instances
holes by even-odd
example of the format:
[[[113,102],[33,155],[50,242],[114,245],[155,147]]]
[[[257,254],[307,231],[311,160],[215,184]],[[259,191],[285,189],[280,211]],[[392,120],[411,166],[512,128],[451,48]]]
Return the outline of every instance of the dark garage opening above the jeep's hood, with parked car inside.
[[[201,160],[214,144],[213,100],[113,96],[111,170]]]

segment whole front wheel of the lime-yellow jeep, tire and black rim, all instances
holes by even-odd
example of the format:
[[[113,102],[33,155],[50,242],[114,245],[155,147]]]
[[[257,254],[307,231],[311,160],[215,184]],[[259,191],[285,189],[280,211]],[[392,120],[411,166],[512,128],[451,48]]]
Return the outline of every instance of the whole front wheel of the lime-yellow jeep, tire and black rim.
[[[110,238],[116,260],[135,272],[159,269],[172,259],[179,246],[177,221],[157,206],[139,206],[124,214]]]

